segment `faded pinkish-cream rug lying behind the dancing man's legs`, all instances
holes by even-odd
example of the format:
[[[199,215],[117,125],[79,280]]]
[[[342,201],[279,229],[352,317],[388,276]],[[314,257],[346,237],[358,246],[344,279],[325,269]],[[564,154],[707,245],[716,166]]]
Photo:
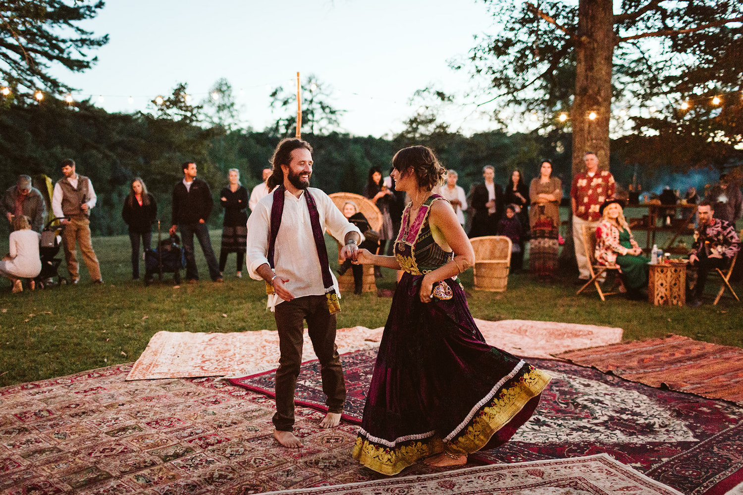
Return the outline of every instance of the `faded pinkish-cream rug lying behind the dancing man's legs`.
[[[340,328],[339,353],[378,347],[382,329]],[[302,361],[316,359],[305,331]],[[246,376],[279,367],[279,335],[271,330],[203,333],[157,332],[132,367],[127,380]]]

